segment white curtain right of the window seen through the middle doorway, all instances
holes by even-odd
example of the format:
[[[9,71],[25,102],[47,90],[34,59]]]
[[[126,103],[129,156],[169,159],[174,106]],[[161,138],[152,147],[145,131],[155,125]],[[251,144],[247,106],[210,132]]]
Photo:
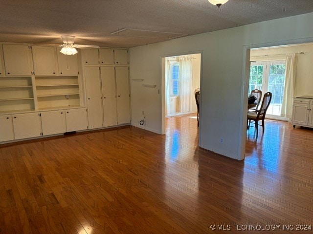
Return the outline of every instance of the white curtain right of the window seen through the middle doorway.
[[[192,89],[192,61],[182,59],[179,61],[179,97],[177,111],[179,113],[191,110]]]

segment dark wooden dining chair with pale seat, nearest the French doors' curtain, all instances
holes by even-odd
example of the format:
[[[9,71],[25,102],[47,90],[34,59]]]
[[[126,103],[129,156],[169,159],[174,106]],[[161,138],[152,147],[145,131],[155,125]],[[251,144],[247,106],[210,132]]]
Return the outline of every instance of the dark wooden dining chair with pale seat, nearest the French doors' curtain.
[[[256,128],[256,135],[258,135],[259,133],[259,121],[260,120],[262,120],[262,128],[263,128],[263,133],[264,133],[264,128],[265,128],[264,119],[265,119],[265,115],[268,110],[268,106],[270,104],[271,99],[272,99],[272,93],[267,92],[266,94],[264,94],[260,109],[255,110],[254,112],[248,112],[248,117],[247,117],[248,122],[249,122],[248,127],[250,127],[251,120],[253,120],[254,126]]]

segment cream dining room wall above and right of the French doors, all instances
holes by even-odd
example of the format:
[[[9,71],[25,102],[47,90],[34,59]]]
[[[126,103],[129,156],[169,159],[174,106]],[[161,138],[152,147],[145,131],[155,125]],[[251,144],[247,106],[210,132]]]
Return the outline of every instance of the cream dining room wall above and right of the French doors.
[[[295,78],[295,96],[312,95],[313,96],[313,44],[302,44],[275,48],[262,48],[251,50],[251,61],[285,60],[286,56],[282,54],[298,54],[297,73]],[[263,56],[269,55],[269,56]],[[280,56],[277,56],[280,55]],[[253,57],[257,56],[257,57]]]

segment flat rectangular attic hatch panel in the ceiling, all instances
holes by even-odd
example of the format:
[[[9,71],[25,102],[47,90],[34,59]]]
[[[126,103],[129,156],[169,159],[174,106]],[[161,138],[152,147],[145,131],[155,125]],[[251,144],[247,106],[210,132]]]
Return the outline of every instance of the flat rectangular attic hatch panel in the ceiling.
[[[118,30],[116,32],[111,33],[111,35],[127,36],[127,37],[139,37],[139,38],[173,39],[173,38],[179,38],[179,37],[187,36],[188,34],[168,33],[168,32],[158,32],[158,31],[151,31],[151,30],[123,28],[121,30]]]

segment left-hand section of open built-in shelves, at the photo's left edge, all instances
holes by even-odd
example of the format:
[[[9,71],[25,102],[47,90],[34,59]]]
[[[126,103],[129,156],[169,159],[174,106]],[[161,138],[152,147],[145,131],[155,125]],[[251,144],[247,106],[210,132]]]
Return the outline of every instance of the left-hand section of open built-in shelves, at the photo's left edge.
[[[0,113],[35,110],[31,77],[0,78]]]

